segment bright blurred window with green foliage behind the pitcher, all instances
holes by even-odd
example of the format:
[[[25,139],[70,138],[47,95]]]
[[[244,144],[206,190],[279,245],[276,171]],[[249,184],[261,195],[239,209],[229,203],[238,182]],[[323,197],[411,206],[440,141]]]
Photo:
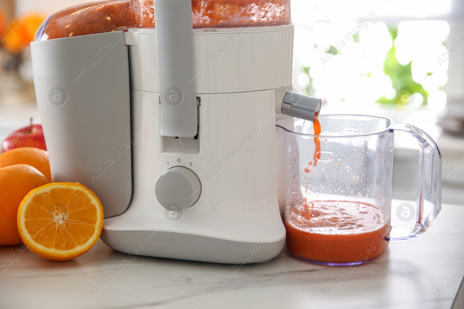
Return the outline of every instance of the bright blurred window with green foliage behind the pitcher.
[[[329,105],[427,104],[441,112],[450,33],[442,13],[450,10],[451,1],[293,0],[295,87]]]

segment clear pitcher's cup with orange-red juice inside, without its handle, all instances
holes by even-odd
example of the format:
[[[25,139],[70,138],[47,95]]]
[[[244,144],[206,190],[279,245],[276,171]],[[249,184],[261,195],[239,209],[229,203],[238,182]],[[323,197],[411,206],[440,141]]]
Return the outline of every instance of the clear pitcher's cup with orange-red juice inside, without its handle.
[[[277,130],[284,131],[286,247],[311,262],[361,264],[389,243],[391,180],[385,180],[391,177],[393,152],[379,158],[371,149],[380,140],[372,136],[377,120],[350,123],[322,116],[319,122],[315,116],[312,124],[277,122]],[[380,135],[391,139],[387,132]]]

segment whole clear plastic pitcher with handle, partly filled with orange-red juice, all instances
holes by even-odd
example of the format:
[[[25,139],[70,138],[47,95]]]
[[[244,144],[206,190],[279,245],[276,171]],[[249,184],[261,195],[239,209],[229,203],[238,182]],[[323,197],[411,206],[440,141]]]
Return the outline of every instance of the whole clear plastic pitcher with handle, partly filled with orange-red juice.
[[[430,136],[381,117],[322,115],[319,120],[320,135],[307,120],[277,121],[290,254],[327,265],[355,265],[379,256],[389,240],[425,232],[441,209],[441,155]],[[395,132],[419,140],[414,227],[391,226]]]

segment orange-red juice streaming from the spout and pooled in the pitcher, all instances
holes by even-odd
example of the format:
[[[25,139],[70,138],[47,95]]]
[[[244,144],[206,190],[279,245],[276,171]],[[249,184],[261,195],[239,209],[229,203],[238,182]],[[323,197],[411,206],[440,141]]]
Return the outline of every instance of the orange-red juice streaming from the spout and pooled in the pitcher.
[[[322,131],[315,114],[314,135]],[[321,142],[314,137],[313,161],[321,158]],[[388,246],[385,237],[391,227],[383,223],[382,211],[369,203],[353,201],[307,202],[290,206],[285,214],[287,250],[296,257],[326,264],[359,264],[378,257]],[[315,208],[316,205],[316,208]]]

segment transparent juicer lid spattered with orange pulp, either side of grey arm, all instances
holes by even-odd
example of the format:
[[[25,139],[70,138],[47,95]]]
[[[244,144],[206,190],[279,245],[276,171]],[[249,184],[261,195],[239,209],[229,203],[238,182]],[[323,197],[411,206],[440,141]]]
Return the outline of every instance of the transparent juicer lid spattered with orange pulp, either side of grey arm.
[[[290,0],[192,0],[193,28],[289,25]],[[34,41],[155,28],[153,0],[89,1],[50,15]]]

